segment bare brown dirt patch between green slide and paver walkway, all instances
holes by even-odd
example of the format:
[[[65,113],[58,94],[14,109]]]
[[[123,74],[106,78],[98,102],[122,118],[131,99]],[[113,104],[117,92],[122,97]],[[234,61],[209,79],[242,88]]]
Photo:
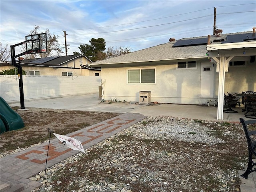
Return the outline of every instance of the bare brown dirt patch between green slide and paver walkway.
[[[32,144],[46,141],[50,137],[48,128],[58,134],[66,135],[120,115],[108,112],[46,108],[18,110],[18,107],[13,107],[13,109],[20,115],[25,127],[1,134],[1,153],[12,152],[17,148],[26,148]]]

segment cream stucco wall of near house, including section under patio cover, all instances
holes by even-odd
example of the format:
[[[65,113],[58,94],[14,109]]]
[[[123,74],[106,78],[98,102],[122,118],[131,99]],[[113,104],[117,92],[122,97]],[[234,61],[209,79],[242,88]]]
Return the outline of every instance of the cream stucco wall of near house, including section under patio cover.
[[[203,62],[206,62],[205,60]],[[210,66],[213,63],[210,63]],[[127,69],[155,68],[155,84],[127,84]],[[160,66],[102,68],[102,84],[105,100],[139,101],[140,91],[151,91],[151,102],[176,103],[176,104],[210,104],[218,98],[218,78],[216,64],[213,67],[214,95],[211,98],[201,98],[201,62],[197,62],[197,68],[176,68],[175,63]],[[245,75],[246,74],[246,75]],[[236,93],[246,90],[256,90],[256,64],[247,62],[246,66],[230,66],[226,72],[225,92]],[[250,86],[249,86],[250,85]]]

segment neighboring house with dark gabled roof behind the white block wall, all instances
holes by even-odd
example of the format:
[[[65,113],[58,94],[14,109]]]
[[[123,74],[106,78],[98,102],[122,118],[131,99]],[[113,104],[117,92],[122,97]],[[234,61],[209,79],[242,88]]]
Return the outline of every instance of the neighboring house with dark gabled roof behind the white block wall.
[[[100,68],[91,68],[92,61],[83,54],[16,61],[29,76],[100,76]],[[1,62],[0,71],[14,68],[12,62]]]

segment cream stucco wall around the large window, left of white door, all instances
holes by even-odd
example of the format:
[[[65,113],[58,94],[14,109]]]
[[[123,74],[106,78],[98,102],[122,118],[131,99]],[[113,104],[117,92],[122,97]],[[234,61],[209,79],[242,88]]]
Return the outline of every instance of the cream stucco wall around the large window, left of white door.
[[[151,91],[151,102],[178,104],[207,102],[206,98],[200,98],[200,62],[197,68],[183,70],[177,70],[176,64],[150,66],[156,69],[155,84],[127,84],[127,69],[137,68],[102,68],[102,79],[106,80],[103,84],[102,98],[138,102],[140,91]]]

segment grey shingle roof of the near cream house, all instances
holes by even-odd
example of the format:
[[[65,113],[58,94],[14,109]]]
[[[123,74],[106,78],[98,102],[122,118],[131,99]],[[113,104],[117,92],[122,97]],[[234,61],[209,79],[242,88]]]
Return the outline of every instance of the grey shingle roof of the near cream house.
[[[229,41],[232,41],[232,35],[236,34],[252,34],[252,32],[239,32],[222,34],[216,37],[215,35],[210,36],[211,44],[220,44],[222,42],[227,42],[227,36]],[[186,44],[182,46],[175,46],[176,42],[188,40],[197,41],[197,44]],[[202,40],[202,41],[201,41]],[[254,39],[255,40],[255,39]],[[186,42],[186,41],[184,41]],[[173,42],[168,42],[165,44],[160,44],[150,48],[138,50],[125,55],[117,56],[114,58],[109,58],[106,60],[101,60],[97,62],[90,63],[91,66],[105,66],[108,64],[132,64],[140,62],[159,62],[159,61],[169,61],[169,60],[180,60],[180,59],[192,59],[192,58],[207,58],[206,48],[207,48],[208,36],[194,37],[194,38],[183,38]]]

